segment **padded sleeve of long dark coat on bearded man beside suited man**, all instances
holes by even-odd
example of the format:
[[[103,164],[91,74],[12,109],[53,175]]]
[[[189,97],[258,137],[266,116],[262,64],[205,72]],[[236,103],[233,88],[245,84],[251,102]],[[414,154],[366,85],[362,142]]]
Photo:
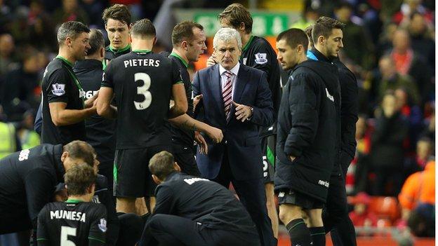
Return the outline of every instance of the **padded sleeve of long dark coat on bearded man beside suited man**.
[[[288,156],[300,156],[303,149],[312,145],[317,134],[319,93],[309,76],[298,74],[293,80],[289,78],[288,83],[291,130],[284,143],[284,153]]]

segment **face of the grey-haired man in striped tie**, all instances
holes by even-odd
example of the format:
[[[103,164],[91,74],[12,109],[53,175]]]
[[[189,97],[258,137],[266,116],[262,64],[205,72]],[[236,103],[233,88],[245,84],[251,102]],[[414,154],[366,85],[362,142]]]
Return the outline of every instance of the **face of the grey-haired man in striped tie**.
[[[232,69],[239,62],[241,49],[237,45],[236,39],[228,41],[219,40],[218,46],[214,48],[216,61],[227,70]]]

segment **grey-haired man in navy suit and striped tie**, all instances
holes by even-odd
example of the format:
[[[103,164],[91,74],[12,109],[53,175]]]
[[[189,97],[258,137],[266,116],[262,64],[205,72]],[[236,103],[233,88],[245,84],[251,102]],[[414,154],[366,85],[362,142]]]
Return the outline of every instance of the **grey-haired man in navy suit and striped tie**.
[[[197,153],[199,171],[225,187],[232,182],[237,195],[257,226],[262,245],[277,245],[265,205],[262,151],[258,125],[274,122],[266,74],[239,63],[241,37],[221,28],[213,39],[218,64],[194,76],[194,96],[204,108],[202,121],[223,131],[221,142],[206,138],[208,153]]]

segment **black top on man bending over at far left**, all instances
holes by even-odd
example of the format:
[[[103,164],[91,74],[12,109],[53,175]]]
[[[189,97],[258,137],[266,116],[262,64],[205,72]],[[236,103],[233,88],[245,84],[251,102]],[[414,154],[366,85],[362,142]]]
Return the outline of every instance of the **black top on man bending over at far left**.
[[[41,144],[0,160],[0,218],[28,213],[36,222],[55,186],[63,182],[61,154],[61,144]]]

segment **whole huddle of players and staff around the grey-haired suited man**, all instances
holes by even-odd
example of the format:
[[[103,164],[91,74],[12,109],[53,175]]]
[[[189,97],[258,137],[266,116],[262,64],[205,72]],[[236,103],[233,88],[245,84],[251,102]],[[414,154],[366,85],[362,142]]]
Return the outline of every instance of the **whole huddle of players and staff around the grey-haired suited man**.
[[[202,25],[180,22],[171,53],[153,53],[150,20],[131,23],[121,4],[102,20],[107,47],[81,22],[58,29],[41,145],[0,160],[0,234],[31,245],[272,246],[280,219],[292,245],[325,245],[330,231],[356,245],[344,177],[357,81],[338,59],[341,22],[281,32],[276,54],[231,4],[191,79]]]

